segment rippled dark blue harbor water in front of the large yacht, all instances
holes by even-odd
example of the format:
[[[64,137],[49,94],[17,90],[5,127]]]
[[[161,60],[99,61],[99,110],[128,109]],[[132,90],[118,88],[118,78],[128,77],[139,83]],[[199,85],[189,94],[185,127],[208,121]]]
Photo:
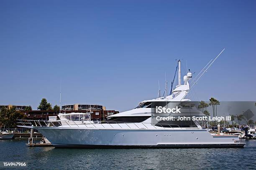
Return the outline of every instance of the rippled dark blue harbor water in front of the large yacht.
[[[0,140],[0,162],[27,162],[25,169],[47,170],[255,169],[256,140],[246,142],[245,148],[58,149],[28,148],[27,140]]]

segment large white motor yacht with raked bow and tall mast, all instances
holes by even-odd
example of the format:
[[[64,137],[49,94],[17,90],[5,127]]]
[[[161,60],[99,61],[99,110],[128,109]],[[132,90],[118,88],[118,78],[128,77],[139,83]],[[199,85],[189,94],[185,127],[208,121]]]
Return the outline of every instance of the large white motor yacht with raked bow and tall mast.
[[[181,85],[180,61],[179,83],[172,94],[157,99],[145,100],[133,110],[108,117],[108,121],[95,123],[83,113],[60,114],[60,120],[49,120],[47,125],[40,121],[19,120],[20,127],[34,128],[55,147],[86,148],[173,148],[173,147],[243,147],[245,141],[236,135],[213,135],[196,121],[152,122],[153,102],[186,102],[189,80],[192,73],[184,76]],[[186,107],[182,108],[183,110]],[[189,108],[186,114],[202,116],[202,112]],[[179,113],[172,113],[178,116]]]

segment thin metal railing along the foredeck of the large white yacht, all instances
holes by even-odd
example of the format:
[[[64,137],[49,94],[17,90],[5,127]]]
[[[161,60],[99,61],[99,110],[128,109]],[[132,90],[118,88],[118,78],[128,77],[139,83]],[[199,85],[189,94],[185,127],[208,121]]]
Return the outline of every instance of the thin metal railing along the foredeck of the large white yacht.
[[[68,125],[71,127],[81,128],[84,125],[86,128],[113,128],[113,129],[166,129],[166,128],[181,128],[179,125],[163,124],[163,123],[146,123],[146,122],[101,122],[92,123],[91,121],[72,121],[72,120],[56,120],[56,121],[44,121],[44,120],[17,120],[18,125],[21,126],[40,126],[40,127],[58,127]],[[123,126],[125,125],[125,127]],[[186,128],[183,128],[186,129]],[[195,128],[194,128],[195,129]],[[197,128],[196,128],[197,129]]]

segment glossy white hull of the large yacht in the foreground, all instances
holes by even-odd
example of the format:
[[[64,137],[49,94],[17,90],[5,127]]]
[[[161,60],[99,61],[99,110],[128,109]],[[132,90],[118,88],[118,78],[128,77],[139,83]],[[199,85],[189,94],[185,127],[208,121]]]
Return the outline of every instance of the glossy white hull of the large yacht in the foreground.
[[[55,147],[181,148],[243,147],[238,136],[215,135],[207,130],[131,130],[34,127]]]

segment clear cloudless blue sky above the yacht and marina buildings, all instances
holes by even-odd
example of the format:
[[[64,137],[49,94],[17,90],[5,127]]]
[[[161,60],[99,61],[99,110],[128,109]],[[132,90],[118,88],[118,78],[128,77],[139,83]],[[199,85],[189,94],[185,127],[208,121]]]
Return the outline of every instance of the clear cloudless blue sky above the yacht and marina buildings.
[[[192,100],[254,101],[256,1],[0,1],[0,105],[128,110],[225,47]],[[170,90],[170,89],[169,89]]]

